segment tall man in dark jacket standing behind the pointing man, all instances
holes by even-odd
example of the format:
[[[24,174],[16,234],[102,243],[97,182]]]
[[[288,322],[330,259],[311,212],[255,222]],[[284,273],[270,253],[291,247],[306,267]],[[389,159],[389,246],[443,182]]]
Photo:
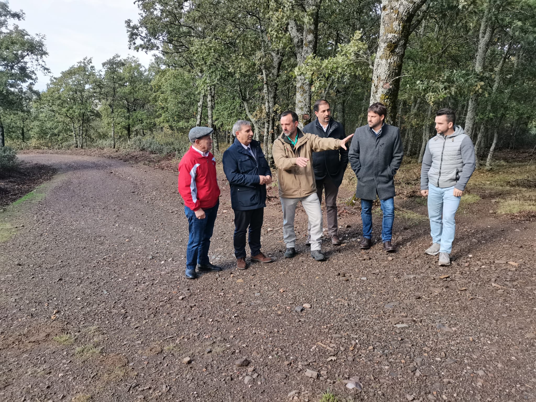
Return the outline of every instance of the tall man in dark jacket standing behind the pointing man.
[[[344,127],[331,118],[330,104],[325,99],[315,103],[316,120],[307,124],[303,132],[314,134],[321,138],[344,139]],[[326,192],[327,233],[331,237],[331,244],[340,245],[337,235],[337,193],[340,183],[343,182],[344,172],[348,165],[348,150],[313,152],[312,167],[315,171],[316,192],[318,200],[322,203],[322,190]],[[307,242],[310,239],[311,227],[307,228]]]

